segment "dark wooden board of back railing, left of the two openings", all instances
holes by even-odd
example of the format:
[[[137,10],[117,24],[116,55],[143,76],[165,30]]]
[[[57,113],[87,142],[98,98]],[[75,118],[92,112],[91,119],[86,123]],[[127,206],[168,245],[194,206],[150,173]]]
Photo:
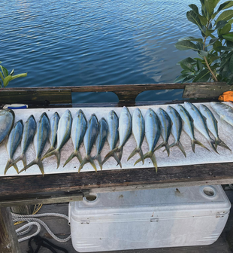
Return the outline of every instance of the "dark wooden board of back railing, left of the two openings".
[[[69,89],[43,89],[38,90],[37,88],[19,88],[14,90],[1,90],[0,102],[2,104],[65,104],[72,102],[71,90]]]

